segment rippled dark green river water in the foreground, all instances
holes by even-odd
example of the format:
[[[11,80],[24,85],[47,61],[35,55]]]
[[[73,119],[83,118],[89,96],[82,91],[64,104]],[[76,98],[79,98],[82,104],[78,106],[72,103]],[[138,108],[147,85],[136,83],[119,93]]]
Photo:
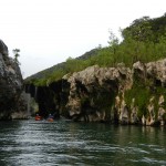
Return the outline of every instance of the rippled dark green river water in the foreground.
[[[0,122],[0,166],[166,166],[166,128]]]

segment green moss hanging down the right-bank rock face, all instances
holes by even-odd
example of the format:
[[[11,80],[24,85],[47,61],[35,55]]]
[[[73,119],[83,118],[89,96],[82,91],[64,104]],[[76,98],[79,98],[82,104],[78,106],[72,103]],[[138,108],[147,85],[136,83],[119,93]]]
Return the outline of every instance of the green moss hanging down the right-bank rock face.
[[[127,105],[131,105],[132,100],[135,98],[135,105],[138,106],[138,117],[141,118],[143,115],[146,116],[148,114],[147,112],[147,105],[149,104],[149,98],[154,97],[153,104],[154,104],[154,111],[155,111],[155,117],[157,118],[158,114],[158,100],[160,95],[164,95],[166,97],[166,89],[162,86],[155,86],[154,87],[152,82],[143,82],[135,80],[133,87],[125,92],[125,102]],[[163,107],[166,108],[166,102],[163,103]],[[166,120],[166,118],[165,118]]]

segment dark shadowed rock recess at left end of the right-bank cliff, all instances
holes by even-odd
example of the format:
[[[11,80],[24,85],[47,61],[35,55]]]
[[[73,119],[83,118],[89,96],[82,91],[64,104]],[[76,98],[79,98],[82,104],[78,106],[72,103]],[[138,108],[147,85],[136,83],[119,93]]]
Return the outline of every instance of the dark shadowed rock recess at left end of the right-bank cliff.
[[[52,114],[54,118],[59,118],[60,116],[69,117],[69,112],[65,106],[69,91],[70,85],[66,80],[53,82],[48,86],[25,85],[25,93],[29,93],[38,103],[38,110],[33,108],[33,112],[38,112],[38,114],[44,118],[46,118],[49,114]]]

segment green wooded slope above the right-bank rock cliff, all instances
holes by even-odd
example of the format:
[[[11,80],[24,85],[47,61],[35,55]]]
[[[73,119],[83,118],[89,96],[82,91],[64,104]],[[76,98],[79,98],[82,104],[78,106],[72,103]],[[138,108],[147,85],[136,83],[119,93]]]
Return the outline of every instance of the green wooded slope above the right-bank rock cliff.
[[[108,46],[97,46],[77,59],[69,58],[66,62],[41,71],[25,81],[45,85],[94,64],[116,66],[123,62],[126,66],[132,66],[136,61],[149,62],[166,58],[166,14],[155,19],[136,19],[129,27],[121,30],[121,42],[110,32]]]

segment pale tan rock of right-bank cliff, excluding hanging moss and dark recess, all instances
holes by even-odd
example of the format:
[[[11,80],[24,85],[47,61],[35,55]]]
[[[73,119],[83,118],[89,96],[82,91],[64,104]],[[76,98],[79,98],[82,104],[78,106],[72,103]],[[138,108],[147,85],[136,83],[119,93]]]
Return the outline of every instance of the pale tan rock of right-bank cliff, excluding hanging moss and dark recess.
[[[125,103],[125,93],[133,87],[134,79],[141,83],[152,84],[147,89],[155,90],[155,82],[166,86],[166,59],[156,62],[136,62],[133,68],[126,68],[123,63],[117,68],[90,66],[68,77],[70,95],[66,104],[70,115],[77,121],[113,121],[121,124],[155,125],[165,123],[165,98],[158,101],[158,115],[155,113],[153,94],[146,103],[147,114],[138,117],[139,107],[133,96],[131,104]]]

